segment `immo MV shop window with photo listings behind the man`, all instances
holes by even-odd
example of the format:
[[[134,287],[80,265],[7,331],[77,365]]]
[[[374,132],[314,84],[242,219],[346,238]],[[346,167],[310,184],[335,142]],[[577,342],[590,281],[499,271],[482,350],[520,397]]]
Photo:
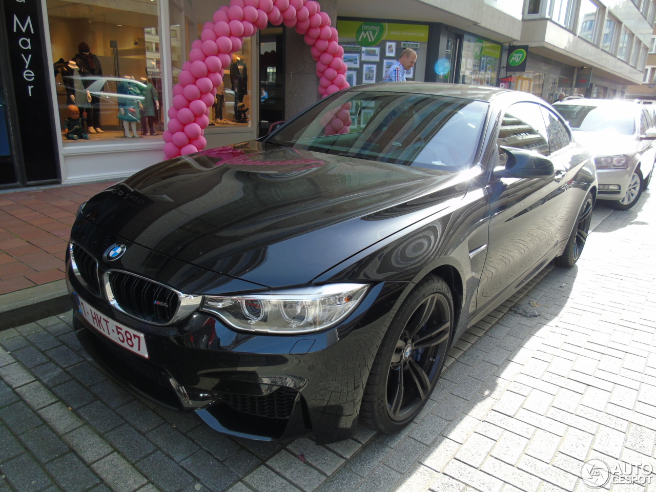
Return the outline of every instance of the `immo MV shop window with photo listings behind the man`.
[[[417,62],[405,72],[405,79],[425,80],[428,26],[338,20],[337,31],[339,44],[344,48],[344,63],[348,67],[346,81],[350,85],[382,82],[385,73],[406,48],[417,52]],[[447,67],[441,69],[449,70]]]

